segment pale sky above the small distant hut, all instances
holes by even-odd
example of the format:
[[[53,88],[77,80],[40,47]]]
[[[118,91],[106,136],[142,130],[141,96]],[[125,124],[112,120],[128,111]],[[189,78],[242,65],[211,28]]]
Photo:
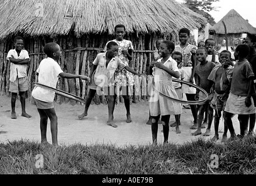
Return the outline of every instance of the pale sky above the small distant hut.
[[[183,0],[176,0],[178,2],[183,2]],[[219,0],[218,2],[213,2],[217,11],[212,10],[208,12],[218,23],[222,17],[224,17],[229,10],[234,9],[240,14],[244,19],[248,19],[249,23],[256,27],[256,1],[255,0]]]

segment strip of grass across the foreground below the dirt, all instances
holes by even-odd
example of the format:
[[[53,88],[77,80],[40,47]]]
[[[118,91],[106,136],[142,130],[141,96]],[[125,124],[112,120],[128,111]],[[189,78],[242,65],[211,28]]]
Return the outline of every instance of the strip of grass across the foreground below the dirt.
[[[43,155],[43,168],[36,167],[38,154]],[[218,155],[218,164],[211,155]],[[0,174],[255,173],[255,136],[226,144],[198,138],[183,145],[122,148],[113,144],[41,146],[24,140],[0,144]]]

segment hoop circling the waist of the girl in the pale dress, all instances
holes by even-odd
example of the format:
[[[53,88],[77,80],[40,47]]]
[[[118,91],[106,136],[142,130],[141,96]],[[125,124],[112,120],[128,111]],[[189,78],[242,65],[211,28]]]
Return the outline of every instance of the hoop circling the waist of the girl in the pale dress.
[[[201,92],[203,92],[204,93],[204,95],[206,95],[206,98],[205,99],[202,99],[202,100],[199,100],[199,101],[183,101],[183,100],[180,100],[180,99],[176,99],[176,98],[171,98],[170,96],[167,96],[167,95],[165,95],[165,94],[163,94],[162,92],[159,92],[158,90],[156,90],[157,92],[159,92],[159,94],[160,95],[162,95],[162,96],[164,96],[164,97],[166,97],[166,98],[168,98],[168,99],[171,99],[172,101],[176,101],[176,102],[178,102],[178,103],[181,103],[181,104],[188,104],[188,105],[198,105],[198,104],[200,104],[200,103],[204,103],[207,99],[208,99],[208,94],[207,94],[207,92],[203,89],[203,88],[201,88],[201,87],[198,87],[198,85],[195,85],[195,84],[192,84],[192,83],[190,83],[190,82],[188,82],[188,81],[182,81],[182,80],[178,80],[178,79],[174,79],[173,78],[173,81],[174,82],[177,82],[177,83],[183,83],[183,84],[186,84],[186,85],[190,85],[191,87],[194,87],[194,88],[197,88],[199,91],[201,91]],[[155,88],[155,87],[154,87]]]

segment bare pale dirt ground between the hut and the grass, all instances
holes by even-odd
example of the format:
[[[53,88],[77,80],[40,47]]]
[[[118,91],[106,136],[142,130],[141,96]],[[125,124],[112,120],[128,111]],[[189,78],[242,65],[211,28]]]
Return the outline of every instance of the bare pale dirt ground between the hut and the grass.
[[[149,145],[152,144],[151,127],[146,124],[149,116],[149,102],[132,103],[131,116],[132,122],[126,123],[126,110],[124,103],[115,106],[114,122],[118,125],[113,128],[107,125],[108,108],[107,105],[91,105],[88,116],[83,120],[78,120],[78,115],[83,112],[82,105],[69,105],[68,103],[59,105],[55,103],[55,111],[58,116],[58,142],[59,145],[74,144],[115,144],[122,145]],[[22,117],[20,101],[16,101],[17,119],[10,119],[10,98],[0,96],[0,142],[8,142],[13,140],[30,140],[40,142],[40,116],[38,115],[35,105],[26,102],[26,112],[31,115],[30,119]],[[192,126],[192,114],[190,109],[183,108],[181,115],[181,134],[176,134],[175,127],[170,127],[169,142],[183,144],[186,141],[194,140],[202,135],[193,136],[195,130],[190,130]],[[170,123],[175,121],[171,116]],[[237,116],[233,118],[233,125],[237,134],[240,134],[239,122]],[[203,137],[206,140],[214,135],[213,122],[211,127],[211,135]],[[157,141],[163,142],[162,124],[159,124]],[[223,118],[220,120],[219,137],[217,142],[222,140],[223,135]],[[205,133],[202,129],[202,134]],[[230,133],[227,133],[230,137]],[[51,143],[50,120],[48,120],[47,128],[48,142]]]

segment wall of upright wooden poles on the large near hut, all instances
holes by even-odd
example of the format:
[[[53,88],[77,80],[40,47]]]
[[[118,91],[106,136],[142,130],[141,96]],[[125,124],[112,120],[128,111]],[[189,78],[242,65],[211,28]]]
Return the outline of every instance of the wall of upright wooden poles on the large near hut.
[[[155,42],[157,38],[165,38],[171,40],[171,35],[163,34],[128,34],[125,38],[131,40],[134,45],[134,52],[132,54],[132,60],[129,62],[129,66],[138,71],[139,73],[149,74],[149,65],[153,58],[153,51],[156,50]],[[29,81],[29,90],[27,91],[28,98],[30,99],[31,91],[33,90],[33,84],[35,81],[36,70],[39,63],[46,55],[43,52],[43,46],[47,42],[57,42],[62,50],[61,59],[59,59],[59,65],[61,69],[66,73],[82,74],[89,76],[90,69],[92,67],[93,60],[96,58],[97,53],[103,52],[103,48],[107,41],[113,40],[114,35],[104,34],[85,34],[82,37],[77,38],[74,34],[65,36],[40,36],[40,37],[26,37],[24,38],[24,49],[29,52],[30,62],[27,66],[27,79]],[[4,42],[0,42],[0,92],[1,95],[10,96],[9,92],[9,73],[10,62],[6,60],[7,53],[10,49],[13,49],[13,38],[8,38]],[[146,100],[148,98],[147,82],[145,77],[136,77],[135,85],[130,90],[132,92],[132,102],[138,102]],[[57,88],[70,92],[71,94],[80,96],[81,98],[87,98],[89,87],[84,80],[59,78]],[[121,97],[118,101],[122,102]],[[73,101],[68,98],[56,95],[55,101],[58,103],[70,103],[71,105],[82,104],[80,102]],[[106,104],[106,96],[95,95],[92,104],[99,105],[100,103]]]

